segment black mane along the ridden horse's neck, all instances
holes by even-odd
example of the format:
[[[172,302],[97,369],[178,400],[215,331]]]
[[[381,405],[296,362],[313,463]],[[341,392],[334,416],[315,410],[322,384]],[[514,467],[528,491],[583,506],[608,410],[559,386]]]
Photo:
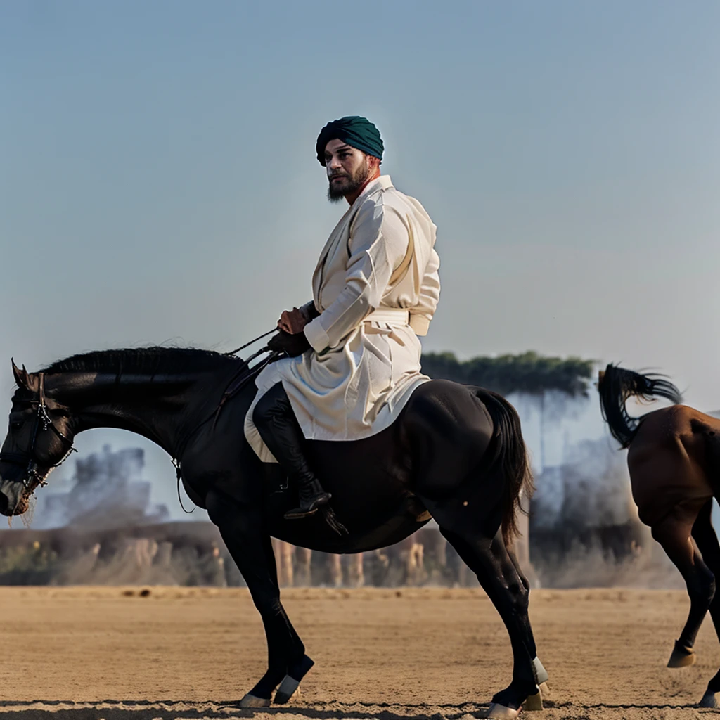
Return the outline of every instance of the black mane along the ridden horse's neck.
[[[108,372],[130,374],[182,374],[215,370],[242,363],[238,357],[199,348],[121,348],[96,350],[55,361],[42,372]]]

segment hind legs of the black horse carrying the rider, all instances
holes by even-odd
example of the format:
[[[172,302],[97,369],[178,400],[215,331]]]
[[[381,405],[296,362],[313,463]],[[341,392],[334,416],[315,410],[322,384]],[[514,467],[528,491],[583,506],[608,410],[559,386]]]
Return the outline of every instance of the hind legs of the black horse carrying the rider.
[[[428,501],[428,510],[438,521],[442,534],[456,552],[477,575],[483,590],[500,613],[513,648],[513,680],[505,690],[495,693],[487,717],[513,719],[528,698],[537,707],[539,682],[547,679],[544,668],[536,658],[535,640],[528,618],[528,588],[508,554],[500,532],[487,537],[478,530],[477,523],[467,516],[467,509],[442,507]],[[455,505],[455,503],[450,503]],[[432,507],[431,507],[432,506]],[[489,523],[497,527],[498,523]],[[541,673],[541,678],[538,675]],[[528,707],[527,709],[530,709]]]

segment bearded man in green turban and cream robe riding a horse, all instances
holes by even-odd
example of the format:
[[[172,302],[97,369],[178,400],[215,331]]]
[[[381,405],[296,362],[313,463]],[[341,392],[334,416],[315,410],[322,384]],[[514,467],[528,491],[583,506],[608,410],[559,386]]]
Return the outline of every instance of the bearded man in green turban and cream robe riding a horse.
[[[330,500],[305,440],[359,440],[390,426],[418,384],[420,341],[440,296],[436,227],[380,174],[384,145],[364,117],[333,120],[316,145],[328,199],[346,199],[312,276],[313,299],[286,310],[269,348],[287,357],[257,377],[246,438],[297,485],[304,518]]]

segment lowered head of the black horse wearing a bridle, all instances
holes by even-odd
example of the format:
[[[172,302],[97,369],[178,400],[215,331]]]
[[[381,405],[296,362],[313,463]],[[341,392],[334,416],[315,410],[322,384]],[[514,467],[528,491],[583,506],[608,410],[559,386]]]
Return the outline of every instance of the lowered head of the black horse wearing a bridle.
[[[22,515],[38,485],[70,454],[73,429],[68,410],[45,395],[45,376],[12,364],[17,391],[0,451],[0,513]]]

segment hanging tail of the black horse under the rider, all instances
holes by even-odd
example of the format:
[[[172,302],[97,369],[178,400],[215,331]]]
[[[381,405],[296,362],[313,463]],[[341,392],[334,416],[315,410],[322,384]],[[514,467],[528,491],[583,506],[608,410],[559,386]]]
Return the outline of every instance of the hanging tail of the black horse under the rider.
[[[520,498],[530,500],[535,485],[528,463],[528,453],[523,441],[520,418],[515,408],[502,395],[490,390],[480,390],[477,396],[485,404],[495,427],[495,460],[500,466],[503,486],[503,540],[510,546],[518,536],[517,513]]]

